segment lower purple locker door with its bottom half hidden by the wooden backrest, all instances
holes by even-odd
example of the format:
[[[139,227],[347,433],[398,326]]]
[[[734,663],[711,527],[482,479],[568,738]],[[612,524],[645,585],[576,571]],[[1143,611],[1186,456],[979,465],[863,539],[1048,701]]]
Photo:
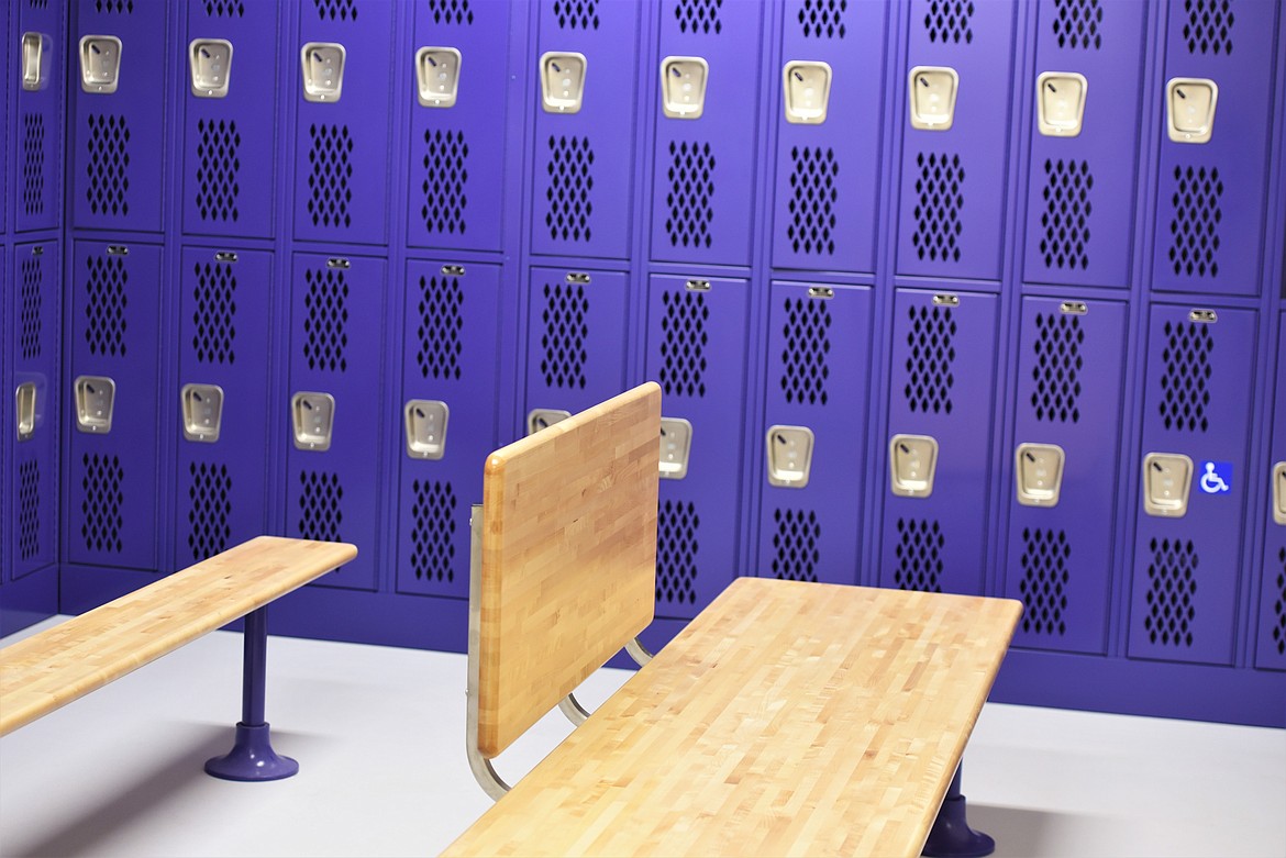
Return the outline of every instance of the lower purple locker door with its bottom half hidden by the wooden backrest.
[[[523,414],[576,414],[625,389],[628,286],[621,271],[531,270]]]

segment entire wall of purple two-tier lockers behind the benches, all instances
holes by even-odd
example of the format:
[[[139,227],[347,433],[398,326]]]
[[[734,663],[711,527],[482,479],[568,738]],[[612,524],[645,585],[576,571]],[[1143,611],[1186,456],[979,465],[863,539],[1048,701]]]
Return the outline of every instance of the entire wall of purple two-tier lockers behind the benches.
[[[1007,595],[995,699],[1283,724],[1278,3],[58,5],[10,627],[270,532],[360,550],[274,631],[460,650],[486,452],[656,379],[652,645],[738,574]]]

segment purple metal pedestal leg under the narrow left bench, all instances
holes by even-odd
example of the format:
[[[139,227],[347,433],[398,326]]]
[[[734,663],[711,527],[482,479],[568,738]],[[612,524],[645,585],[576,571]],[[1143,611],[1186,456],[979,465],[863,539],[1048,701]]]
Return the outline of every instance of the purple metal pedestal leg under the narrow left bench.
[[[242,719],[225,757],[206,760],[206,772],[225,781],[278,781],[300,771],[289,757],[278,757],[264,721],[267,673],[267,608],[246,615],[246,661],[242,672]]]

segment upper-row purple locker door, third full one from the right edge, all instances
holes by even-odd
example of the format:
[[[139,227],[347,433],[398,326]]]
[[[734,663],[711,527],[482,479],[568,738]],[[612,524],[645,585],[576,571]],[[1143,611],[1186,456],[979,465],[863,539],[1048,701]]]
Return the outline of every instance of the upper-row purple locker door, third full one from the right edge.
[[[1010,134],[1011,0],[913,0],[907,68],[949,67],[959,76],[946,131],[910,127],[903,103],[898,272],[998,280],[1004,247]]]

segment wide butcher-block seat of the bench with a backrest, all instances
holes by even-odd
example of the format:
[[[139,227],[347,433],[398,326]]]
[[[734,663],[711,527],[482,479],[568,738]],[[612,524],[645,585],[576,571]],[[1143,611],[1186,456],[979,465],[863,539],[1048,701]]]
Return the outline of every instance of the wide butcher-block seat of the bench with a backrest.
[[[448,855],[918,855],[1011,600],[741,578]]]

